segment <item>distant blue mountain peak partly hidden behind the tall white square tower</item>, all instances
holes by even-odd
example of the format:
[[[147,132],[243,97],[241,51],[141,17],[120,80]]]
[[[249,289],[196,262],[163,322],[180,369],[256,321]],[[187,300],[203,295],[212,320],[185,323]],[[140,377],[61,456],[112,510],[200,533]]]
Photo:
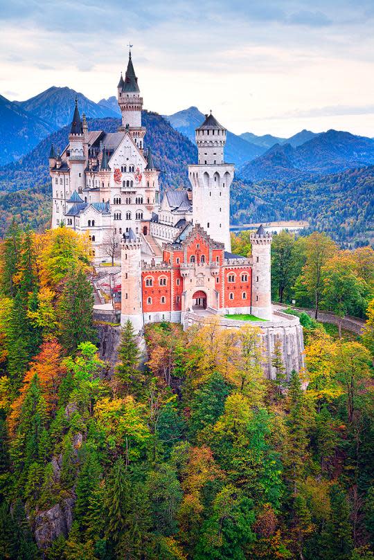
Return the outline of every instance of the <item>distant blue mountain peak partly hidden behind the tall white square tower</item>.
[[[164,116],[176,130],[195,143],[195,129],[204,122],[205,116],[197,107],[189,107],[173,115]],[[245,141],[240,136],[227,131],[224,159],[239,167],[265,152],[265,147]]]

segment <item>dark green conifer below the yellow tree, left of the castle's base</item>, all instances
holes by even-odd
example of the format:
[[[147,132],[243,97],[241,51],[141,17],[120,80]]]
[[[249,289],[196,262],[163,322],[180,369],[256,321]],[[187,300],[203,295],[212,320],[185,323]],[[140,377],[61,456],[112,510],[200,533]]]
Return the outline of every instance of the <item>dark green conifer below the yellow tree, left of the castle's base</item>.
[[[67,353],[75,352],[81,342],[96,341],[93,306],[90,282],[81,270],[73,270],[66,279],[58,305],[60,342]]]

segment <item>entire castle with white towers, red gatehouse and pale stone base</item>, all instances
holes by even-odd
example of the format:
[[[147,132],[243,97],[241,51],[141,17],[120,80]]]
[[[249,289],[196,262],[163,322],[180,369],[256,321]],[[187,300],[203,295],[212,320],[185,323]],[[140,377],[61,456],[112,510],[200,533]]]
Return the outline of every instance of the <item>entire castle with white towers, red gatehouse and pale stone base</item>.
[[[88,232],[96,265],[110,262],[121,248],[121,270],[101,282],[114,308],[121,308],[121,324],[130,319],[141,332],[145,323],[161,320],[186,327],[206,316],[252,314],[264,320],[258,324],[268,347],[269,375],[275,337],[286,331],[287,371],[299,370],[299,319],[274,319],[271,309],[271,234],[260,226],[251,234],[251,256],[231,253],[234,166],[224,161],[226,129],[206,115],[195,132],[198,163],[188,165],[191,187],[166,190],[160,201],[159,170],[150,148],[144,148],[143,98],[131,53],[117,99],[118,132],[89,131],[75,101],[69,145],[62,154],[51,147],[52,227],[63,223]]]

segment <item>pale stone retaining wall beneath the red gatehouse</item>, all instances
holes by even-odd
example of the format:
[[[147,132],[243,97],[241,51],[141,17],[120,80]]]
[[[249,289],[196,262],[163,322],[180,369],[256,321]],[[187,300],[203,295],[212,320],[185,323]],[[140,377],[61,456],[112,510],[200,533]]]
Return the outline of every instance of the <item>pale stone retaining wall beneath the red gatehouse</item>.
[[[216,320],[217,316],[201,316],[193,312],[186,312],[182,316],[184,329],[192,325],[204,325],[209,320]],[[264,348],[264,370],[268,379],[274,379],[275,370],[271,365],[276,340],[281,341],[283,364],[286,368],[287,378],[292,370],[300,371],[305,367],[303,327],[299,318],[287,315],[281,311],[274,311],[274,320],[271,321],[243,321],[220,318],[220,325],[225,329],[238,329],[245,326],[260,327],[262,331],[262,345]]]

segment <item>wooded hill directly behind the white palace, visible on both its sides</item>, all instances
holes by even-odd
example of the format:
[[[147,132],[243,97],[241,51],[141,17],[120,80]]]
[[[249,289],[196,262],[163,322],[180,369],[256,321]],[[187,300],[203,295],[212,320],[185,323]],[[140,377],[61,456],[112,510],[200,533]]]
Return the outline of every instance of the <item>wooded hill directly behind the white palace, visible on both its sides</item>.
[[[188,181],[187,164],[196,161],[197,148],[188,139],[173,129],[159,114],[143,111],[143,124],[147,127],[145,147],[150,145],[157,167],[161,170],[161,187],[177,187]],[[89,129],[116,132],[120,121],[116,118],[89,120]],[[21,223],[30,223],[36,228],[49,219],[50,177],[48,153],[51,143],[63,150],[68,142],[69,127],[64,127],[44,138],[32,152],[17,163],[0,168],[0,191],[17,192],[0,197],[0,236],[8,228],[12,216],[17,215]],[[148,138],[150,142],[148,143]],[[34,197],[35,200],[34,200]]]

